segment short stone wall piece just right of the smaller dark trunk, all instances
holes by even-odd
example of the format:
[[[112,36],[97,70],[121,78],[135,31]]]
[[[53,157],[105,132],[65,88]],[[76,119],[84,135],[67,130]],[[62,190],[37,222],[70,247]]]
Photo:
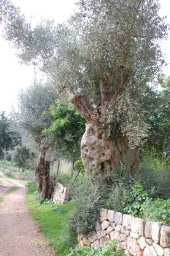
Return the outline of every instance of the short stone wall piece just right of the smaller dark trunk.
[[[65,204],[68,202],[68,188],[64,187],[61,183],[56,182],[52,197],[54,204]]]

